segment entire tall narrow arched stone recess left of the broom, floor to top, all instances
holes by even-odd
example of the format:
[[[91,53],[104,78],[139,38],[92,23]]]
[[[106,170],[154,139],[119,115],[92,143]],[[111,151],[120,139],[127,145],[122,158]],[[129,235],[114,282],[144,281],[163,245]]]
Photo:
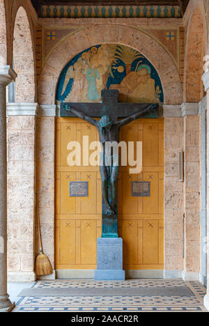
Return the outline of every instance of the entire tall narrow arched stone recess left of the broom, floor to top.
[[[35,231],[35,139],[36,139],[36,99],[35,72],[34,72],[34,52],[32,42],[31,20],[25,8],[16,3],[12,10],[13,23],[10,29],[13,31],[13,54],[10,54],[11,63],[17,72],[17,79],[13,87],[10,86],[8,97],[8,169],[13,162],[18,160],[20,166],[26,162],[27,169],[18,169],[13,165],[10,176],[8,176],[8,247],[12,243],[20,248],[20,243],[24,238],[26,230],[26,243],[29,250],[8,251],[8,279],[13,281],[15,277],[35,279],[34,269],[34,231]],[[20,7],[19,7],[20,6]],[[31,109],[32,108],[32,109]],[[12,134],[15,121],[15,132],[18,134],[18,141],[14,143]],[[20,140],[21,139],[21,140]],[[15,157],[15,148],[19,156]],[[16,178],[17,176],[17,178]],[[29,180],[22,182],[20,180]],[[13,186],[9,187],[10,180],[14,180]],[[17,188],[19,189],[17,191]],[[17,197],[15,198],[15,196]],[[22,198],[20,199],[20,196]],[[13,219],[13,208],[17,209],[21,220]],[[24,220],[25,218],[25,220]],[[25,221],[25,222],[23,222]],[[14,225],[15,223],[15,225]],[[26,226],[26,228],[21,225]],[[16,237],[12,231],[14,228],[20,229],[20,236]],[[26,271],[26,273],[24,273]]]

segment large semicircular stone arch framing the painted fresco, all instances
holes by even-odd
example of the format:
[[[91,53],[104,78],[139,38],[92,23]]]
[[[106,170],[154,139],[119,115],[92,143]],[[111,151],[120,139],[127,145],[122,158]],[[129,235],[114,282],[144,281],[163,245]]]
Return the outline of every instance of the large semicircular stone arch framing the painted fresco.
[[[165,104],[181,104],[183,92],[176,65],[156,40],[130,26],[100,24],[68,36],[51,53],[38,83],[38,102],[54,104],[56,84],[65,65],[79,52],[104,43],[121,44],[141,52],[153,64],[162,81]],[[160,59],[159,59],[160,58]]]

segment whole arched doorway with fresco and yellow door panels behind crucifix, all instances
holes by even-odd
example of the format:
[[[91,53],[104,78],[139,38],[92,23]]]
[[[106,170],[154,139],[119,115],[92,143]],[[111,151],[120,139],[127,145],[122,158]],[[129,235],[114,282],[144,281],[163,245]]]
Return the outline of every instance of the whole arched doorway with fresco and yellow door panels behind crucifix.
[[[155,67],[140,52],[118,44],[95,45],[65,65],[56,101],[100,102],[104,88],[118,89],[119,102],[164,102]],[[72,270],[82,270],[85,277],[96,268],[96,240],[101,235],[100,172],[98,166],[68,166],[67,148],[70,141],[87,136],[91,142],[98,135],[94,127],[77,118],[56,118],[56,125],[56,272],[58,278],[65,278]],[[118,178],[118,233],[123,238],[124,269],[130,277],[132,270],[138,275],[146,270],[160,274],[164,268],[163,119],[134,121],[123,127],[122,134],[126,143],[143,142],[144,167],[141,173],[130,174],[130,166],[123,166]],[[88,183],[88,196],[69,196],[70,182],[77,180]],[[149,196],[132,196],[132,182],[137,180],[150,185]]]

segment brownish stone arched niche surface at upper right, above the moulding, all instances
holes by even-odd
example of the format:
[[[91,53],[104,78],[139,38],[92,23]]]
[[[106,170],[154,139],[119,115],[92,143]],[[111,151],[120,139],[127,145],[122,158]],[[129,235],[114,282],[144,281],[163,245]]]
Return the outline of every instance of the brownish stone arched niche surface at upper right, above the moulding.
[[[184,102],[199,102],[204,93],[201,76],[207,36],[206,20],[202,11],[199,6],[199,8],[191,8],[189,13],[185,45]]]

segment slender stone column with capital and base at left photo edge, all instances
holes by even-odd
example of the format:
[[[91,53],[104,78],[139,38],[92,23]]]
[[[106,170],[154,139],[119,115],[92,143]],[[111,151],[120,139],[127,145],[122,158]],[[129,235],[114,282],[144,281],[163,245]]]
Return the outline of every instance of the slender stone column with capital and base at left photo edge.
[[[7,294],[6,86],[16,77],[10,66],[0,66],[0,312],[13,308]]]

